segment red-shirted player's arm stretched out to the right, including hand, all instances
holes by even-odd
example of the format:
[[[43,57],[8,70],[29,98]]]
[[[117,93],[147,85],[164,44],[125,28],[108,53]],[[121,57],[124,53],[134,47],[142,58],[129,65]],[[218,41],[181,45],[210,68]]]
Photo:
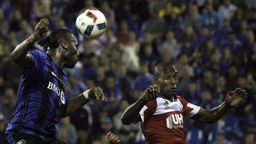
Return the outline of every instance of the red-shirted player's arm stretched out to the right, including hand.
[[[205,110],[201,108],[198,111],[198,113],[192,116],[190,119],[201,120],[208,124],[215,123],[217,120],[223,117],[230,108],[232,108],[233,106],[236,106],[246,98],[247,98],[246,91],[241,90],[241,88],[237,88],[235,91],[231,91],[231,92],[229,91],[226,96],[225,102],[223,102],[219,106],[209,110]]]

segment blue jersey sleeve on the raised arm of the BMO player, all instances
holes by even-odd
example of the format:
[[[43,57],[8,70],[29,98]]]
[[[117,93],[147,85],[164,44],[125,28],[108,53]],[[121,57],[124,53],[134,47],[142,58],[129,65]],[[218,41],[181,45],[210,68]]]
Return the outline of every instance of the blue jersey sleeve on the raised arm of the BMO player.
[[[41,50],[30,50],[28,54],[32,57],[32,63],[27,68],[20,67],[21,72],[26,69],[34,69],[35,71],[40,71],[45,67],[47,63],[47,55]]]

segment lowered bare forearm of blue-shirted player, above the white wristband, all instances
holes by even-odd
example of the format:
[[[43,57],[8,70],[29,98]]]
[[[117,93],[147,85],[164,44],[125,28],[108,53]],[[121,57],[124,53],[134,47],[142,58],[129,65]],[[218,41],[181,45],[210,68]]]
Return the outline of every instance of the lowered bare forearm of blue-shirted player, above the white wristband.
[[[64,111],[62,112],[61,118],[70,116],[72,113],[76,112],[78,109],[81,109],[88,102],[89,100],[86,99],[83,94],[80,94],[75,98],[69,99],[66,109],[64,109]]]

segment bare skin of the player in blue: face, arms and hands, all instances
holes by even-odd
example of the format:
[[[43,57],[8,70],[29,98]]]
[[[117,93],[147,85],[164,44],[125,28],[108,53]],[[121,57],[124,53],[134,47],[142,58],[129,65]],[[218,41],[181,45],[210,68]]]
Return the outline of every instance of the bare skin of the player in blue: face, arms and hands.
[[[31,38],[25,40],[24,42],[21,42],[12,52],[12,62],[16,63],[18,66],[21,67],[28,67],[32,64],[33,59],[31,55],[28,54],[28,50],[35,42],[37,42],[40,38],[46,35],[46,26],[48,24],[49,20],[47,18],[43,18],[40,20],[33,32],[33,36],[31,36]],[[78,61],[78,40],[72,33],[69,33],[68,37],[69,38],[67,40],[62,40],[57,48],[47,52],[47,54],[50,55],[52,60],[60,69],[64,67],[73,68]],[[88,95],[92,99],[102,99],[102,101],[107,101],[100,87],[93,87],[92,89],[90,89]],[[89,100],[86,99],[83,94],[80,94],[75,98],[69,99],[66,109],[64,109],[61,114],[61,118],[71,115],[78,109],[82,108],[88,102]]]

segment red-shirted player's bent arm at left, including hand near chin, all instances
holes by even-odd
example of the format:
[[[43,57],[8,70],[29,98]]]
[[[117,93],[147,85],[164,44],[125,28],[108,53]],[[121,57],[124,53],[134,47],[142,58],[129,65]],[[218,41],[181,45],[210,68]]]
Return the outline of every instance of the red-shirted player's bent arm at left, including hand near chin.
[[[123,125],[130,125],[134,122],[142,122],[140,117],[140,110],[147,104],[149,101],[155,100],[159,96],[159,89],[157,85],[150,85],[140,99],[134,104],[130,105],[126,111],[124,111],[121,120]]]

